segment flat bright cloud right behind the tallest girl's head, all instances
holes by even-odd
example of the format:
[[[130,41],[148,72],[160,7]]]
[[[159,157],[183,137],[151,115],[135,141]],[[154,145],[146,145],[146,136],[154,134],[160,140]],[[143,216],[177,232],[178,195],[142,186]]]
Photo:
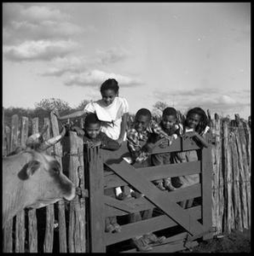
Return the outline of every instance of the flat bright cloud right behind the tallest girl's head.
[[[115,73],[105,73],[100,70],[92,70],[85,73],[72,74],[66,80],[66,85],[80,85],[80,86],[95,86],[102,84],[106,79],[116,79],[118,84],[122,87],[130,87],[141,85],[139,79],[132,79],[130,77],[122,76]]]

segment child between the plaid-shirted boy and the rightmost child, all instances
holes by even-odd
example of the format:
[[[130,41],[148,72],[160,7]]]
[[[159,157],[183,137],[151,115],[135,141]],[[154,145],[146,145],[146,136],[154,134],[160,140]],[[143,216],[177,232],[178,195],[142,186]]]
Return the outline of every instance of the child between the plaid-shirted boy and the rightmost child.
[[[160,127],[167,135],[171,137],[170,143],[177,138],[182,133],[182,125],[176,123],[176,109],[175,108],[165,108],[162,113],[162,120],[160,122]],[[159,136],[158,136],[159,137]],[[160,137],[159,137],[160,139]],[[165,144],[162,142],[160,147],[163,148]],[[170,165],[170,153],[163,154],[153,154],[151,156],[151,161],[153,166]],[[176,181],[176,178],[175,178]],[[175,190],[175,187],[171,183],[171,178],[164,178],[153,181],[153,183],[161,190]],[[180,187],[182,183],[179,183],[177,187]]]

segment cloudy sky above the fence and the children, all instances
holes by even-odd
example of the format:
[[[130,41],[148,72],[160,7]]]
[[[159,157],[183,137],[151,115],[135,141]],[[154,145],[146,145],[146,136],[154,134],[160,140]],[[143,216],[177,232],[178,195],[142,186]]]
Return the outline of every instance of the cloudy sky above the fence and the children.
[[[251,3],[3,3],[3,107],[77,108],[117,79],[130,113],[251,114]]]

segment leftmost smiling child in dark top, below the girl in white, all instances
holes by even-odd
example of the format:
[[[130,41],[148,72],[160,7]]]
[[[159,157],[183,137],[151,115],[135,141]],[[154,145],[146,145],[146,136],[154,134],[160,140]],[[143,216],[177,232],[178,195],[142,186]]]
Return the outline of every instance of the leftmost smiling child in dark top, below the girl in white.
[[[101,131],[101,121],[95,113],[89,113],[84,121],[84,131],[78,126],[73,126],[72,131],[77,131],[78,134],[84,134],[84,144],[88,144],[89,148],[101,147],[110,150],[117,150],[120,145],[112,138],[107,137]],[[105,195],[115,197],[113,189],[106,189]],[[120,232],[121,227],[117,223],[116,217],[107,217],[105,220],[106,232]]]

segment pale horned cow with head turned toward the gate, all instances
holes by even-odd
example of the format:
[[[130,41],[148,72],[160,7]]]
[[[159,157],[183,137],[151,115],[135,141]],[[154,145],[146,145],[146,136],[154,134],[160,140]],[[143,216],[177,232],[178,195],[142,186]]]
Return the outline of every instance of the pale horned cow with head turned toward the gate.
[[[47,128],[28,137],[25,148],[3,157],[3,228],[26,207],[45,207],[61,199],[72,201],[76,195],[75,185],[61,172],[60,163],[45,152],[60,142],[66,129],[43,142]]]

